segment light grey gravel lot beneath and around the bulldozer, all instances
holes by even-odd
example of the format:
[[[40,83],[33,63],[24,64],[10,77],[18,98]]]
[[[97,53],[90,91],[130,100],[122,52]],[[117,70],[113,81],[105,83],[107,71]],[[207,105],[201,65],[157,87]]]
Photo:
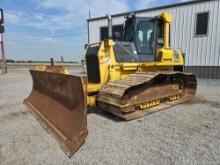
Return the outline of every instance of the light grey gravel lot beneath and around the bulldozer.
[[[22,104],[31,85],[27,70],[0,76],[0,164],[220,164],[220,81],[199,80],[191,102],[134,121],[90,109],[71,159]]]

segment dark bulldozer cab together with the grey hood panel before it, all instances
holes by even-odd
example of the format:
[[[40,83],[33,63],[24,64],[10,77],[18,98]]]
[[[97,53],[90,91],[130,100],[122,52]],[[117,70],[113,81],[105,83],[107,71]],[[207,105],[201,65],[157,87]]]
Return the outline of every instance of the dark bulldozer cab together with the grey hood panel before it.
[[[157,48],[164,44],[164,23],[160,17],[127,17],[123,42],[116,41],[117,62],[155,61]]]

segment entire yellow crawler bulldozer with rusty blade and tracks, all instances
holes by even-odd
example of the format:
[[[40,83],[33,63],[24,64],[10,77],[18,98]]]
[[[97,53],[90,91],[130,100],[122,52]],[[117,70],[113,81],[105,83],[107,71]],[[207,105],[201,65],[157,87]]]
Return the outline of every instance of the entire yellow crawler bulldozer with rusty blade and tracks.
[[[108,38],[86,46],[85,73],[69,74],[62,66],[30,70],[33,89],[24,103],[68,156],[87,137],[88,106],[132,120],[195,95],[196,76],[182,72],[184,55],[170,48],[171,20],[169,13],[130,15],[120,37],[112,34],[109,16]]]

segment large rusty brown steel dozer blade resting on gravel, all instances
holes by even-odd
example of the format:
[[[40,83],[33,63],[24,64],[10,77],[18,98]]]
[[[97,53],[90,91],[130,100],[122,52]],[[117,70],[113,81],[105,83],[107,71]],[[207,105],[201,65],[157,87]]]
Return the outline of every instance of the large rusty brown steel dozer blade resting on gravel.
[[[69,157],[85,141],[87,80],[53,72],[30,70],[33,89],[24,103],[41,125],[55,135]]]

